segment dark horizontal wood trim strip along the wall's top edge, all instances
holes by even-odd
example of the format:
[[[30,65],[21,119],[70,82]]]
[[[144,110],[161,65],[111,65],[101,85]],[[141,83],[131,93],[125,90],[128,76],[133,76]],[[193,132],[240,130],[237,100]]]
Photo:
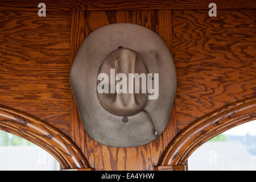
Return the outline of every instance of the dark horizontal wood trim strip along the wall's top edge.
[[[95,10],[184,10],[208,9],[212,1],[204,0],[147,0],[147,1],[44,1],[47,11],[95,11]],[[0,1],[0,11],[38,11],[39,1]],[[215,0],[217,9],[255,9],[254,0]]]

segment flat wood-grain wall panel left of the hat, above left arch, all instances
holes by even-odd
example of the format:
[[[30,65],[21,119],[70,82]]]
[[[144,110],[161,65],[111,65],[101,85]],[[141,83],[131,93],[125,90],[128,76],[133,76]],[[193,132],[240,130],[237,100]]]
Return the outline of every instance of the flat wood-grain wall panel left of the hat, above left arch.
[[[69,134],[70,12],[0,12],[0,104]]]

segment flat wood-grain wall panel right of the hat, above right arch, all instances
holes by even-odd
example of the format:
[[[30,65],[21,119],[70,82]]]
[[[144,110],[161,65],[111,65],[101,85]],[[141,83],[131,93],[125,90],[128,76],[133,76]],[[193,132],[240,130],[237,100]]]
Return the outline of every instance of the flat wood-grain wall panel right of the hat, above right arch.
[[[256,10],[172,11],[182,129],[226,104],[256,95]]]

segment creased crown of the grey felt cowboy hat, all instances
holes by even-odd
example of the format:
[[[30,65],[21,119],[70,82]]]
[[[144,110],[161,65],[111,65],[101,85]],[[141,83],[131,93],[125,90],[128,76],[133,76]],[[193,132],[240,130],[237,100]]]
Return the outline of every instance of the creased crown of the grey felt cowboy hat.
[[[129,73],[147,73],[147,67],[139,53],[133,49],[122,47],[118,47],[106,56],[100,67],[99,74],[106,73],[111,79],[110,69],[114,69],[115,76],[118,75],[118,73],[123,73],[127,78],[129,77]],[[123,78],[121,78],[120,81],[124,81],[122,79]],[[115,80],[115,82],[109,82],[109,90],[111,86],[115,88],[117,84],[117,80]],[[126,80],[123,84],[126,84],[127,90],[134,89],[136,86],[134,85],[134,78],[133,82]],[[139,86],[139,90],[141,91],[142,80],[140,80],[137,86]],[[109,111],[109,113],[119,116],[129,116],[139,113],[144,106],[146,106],[147,93],[98,93],[98,100],[102,107]]]

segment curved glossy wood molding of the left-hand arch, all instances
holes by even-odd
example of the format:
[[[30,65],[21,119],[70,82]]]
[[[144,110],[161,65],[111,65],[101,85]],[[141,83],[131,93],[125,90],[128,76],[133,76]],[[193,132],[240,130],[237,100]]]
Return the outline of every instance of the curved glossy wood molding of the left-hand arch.
[[[47,122],[0,105],[0,129],[42,147],[63,169],[90,168],[75,142]]]

